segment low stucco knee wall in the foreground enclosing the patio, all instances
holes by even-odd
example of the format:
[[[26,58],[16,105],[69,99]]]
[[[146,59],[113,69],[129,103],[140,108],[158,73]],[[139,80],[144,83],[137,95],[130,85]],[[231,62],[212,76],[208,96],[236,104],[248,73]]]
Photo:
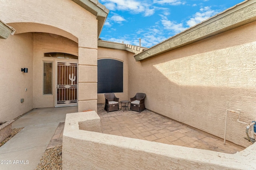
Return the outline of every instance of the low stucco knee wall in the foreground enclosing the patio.
[[[256,144],[236,154],[226,154],[100,132],[100,117],[95,111],[67,114],[63,133],[62,168],[64,170],[256,168]]]

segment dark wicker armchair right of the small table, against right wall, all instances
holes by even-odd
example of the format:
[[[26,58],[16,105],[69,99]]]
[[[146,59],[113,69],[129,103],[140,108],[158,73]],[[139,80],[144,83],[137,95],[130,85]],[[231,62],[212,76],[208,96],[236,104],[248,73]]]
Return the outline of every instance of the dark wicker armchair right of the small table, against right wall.
[[[145,93],[136,93],[136,95],[133,98],[130,98],[131,100],[131,110],[141,112],[145,109],[145,100],[146,94]]]

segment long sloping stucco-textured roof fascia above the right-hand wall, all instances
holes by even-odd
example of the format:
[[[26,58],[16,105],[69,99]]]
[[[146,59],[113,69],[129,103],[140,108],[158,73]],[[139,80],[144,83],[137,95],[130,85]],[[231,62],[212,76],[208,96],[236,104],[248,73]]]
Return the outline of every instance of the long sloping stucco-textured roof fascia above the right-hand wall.
[[[134,58],[136,61],[143,61],[254,21],[256,0],[247,0],[135,55]]]

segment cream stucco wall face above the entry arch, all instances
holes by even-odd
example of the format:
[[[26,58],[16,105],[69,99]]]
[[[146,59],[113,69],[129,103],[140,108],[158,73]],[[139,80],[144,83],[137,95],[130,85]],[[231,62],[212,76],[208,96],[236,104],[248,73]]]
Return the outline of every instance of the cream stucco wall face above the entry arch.
[[[97,47],[96,16],[72,0],[1,0],[0,3],[0,13],[4,14],[0,19],[7,24],[39,23],[44,24],[42,25],[43,27],[50,25],[78,37],[80,47]],[[23,28],[20,29],[23,32],[26,31]],[[29,29],[31,32],[37,32],[36,30],[41,28],[40,25],[35,24],[34,30],[31,30],[29,27],[26,29]],[[16,29],[16,31],[19,32],[19,29]],[[44,31],[48,30],[44,29]],[[57,31],[56,34],[58,34]],[[51,30],[49,32],[52,33]]]

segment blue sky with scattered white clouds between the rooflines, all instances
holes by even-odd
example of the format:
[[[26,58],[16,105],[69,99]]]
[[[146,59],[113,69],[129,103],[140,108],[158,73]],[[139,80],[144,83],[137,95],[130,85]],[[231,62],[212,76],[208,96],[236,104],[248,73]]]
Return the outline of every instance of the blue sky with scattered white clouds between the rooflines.
[[[99,0],[110,10],[100,38],[152,47],[243,0]]]

